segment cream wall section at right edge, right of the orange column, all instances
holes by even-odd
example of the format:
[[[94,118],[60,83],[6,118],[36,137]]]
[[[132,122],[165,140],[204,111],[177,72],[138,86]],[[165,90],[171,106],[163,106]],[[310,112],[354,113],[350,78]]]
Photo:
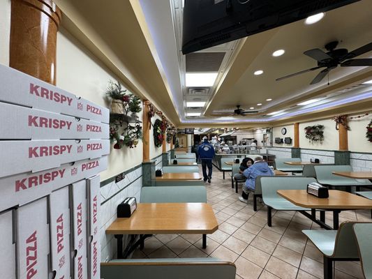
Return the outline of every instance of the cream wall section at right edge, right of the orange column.
[[[369,142],[366,138],[366,126],[369,124],[371,119],[371,116],[366,116],[349,121],[349,127],[351,129],[348,132],[350,151],[372,153],[372,142]]]

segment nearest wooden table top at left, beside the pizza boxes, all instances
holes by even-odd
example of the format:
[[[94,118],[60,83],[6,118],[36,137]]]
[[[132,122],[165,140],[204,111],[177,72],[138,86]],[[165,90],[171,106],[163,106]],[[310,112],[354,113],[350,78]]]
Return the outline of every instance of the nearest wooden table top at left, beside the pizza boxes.
[[[217,229],[209,204],[137,204],[131,218],[117,218],[106,234],[212,234]]]

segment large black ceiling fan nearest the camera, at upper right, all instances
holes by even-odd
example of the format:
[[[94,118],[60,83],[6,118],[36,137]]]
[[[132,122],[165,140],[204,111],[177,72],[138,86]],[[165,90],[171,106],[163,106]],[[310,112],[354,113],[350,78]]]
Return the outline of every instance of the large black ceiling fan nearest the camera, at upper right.
[[[315,48],[313,50],[306,50],[304,54],[318,61],[318,67],[302,70],[291,75],[286,75],[285,77],[279,77],[278,79],[276,79],[276,81],[284,80],[288,77],[294,77],[295,75],[308,73],[312,70],[325,68],[324,70],[321,70],[320,73],[318,73],[318,75],[316,75],[316,77],[310,83],[316,84],[320,82],[329,73],[330,70],[333,70],[338,65],[340,65],[341,67],[372,66],[372,59],[354,59],[354,57],[356,56],[362,55],[366,52],[370,52],[372,50],[372,43],[359,47],[352,52],[348,52],[348,50],[346,50],[345,48],[336,49],[337,45],[338,41],[327,43],[327,45],[325,45],[325,49],[328,52],[323,52],[318,48]]]

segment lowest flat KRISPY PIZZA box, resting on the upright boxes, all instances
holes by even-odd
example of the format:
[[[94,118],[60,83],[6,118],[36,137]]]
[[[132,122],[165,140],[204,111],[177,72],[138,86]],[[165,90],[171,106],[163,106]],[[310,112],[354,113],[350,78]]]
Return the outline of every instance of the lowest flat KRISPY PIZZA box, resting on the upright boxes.
[[[93,160],[80,160],[73,165],[64,164],[43,172],[26,172],[0,178],[0,211],[27,204],[70,183],[103,172],[107,169],[107,160],[107,156],[103,156]]]

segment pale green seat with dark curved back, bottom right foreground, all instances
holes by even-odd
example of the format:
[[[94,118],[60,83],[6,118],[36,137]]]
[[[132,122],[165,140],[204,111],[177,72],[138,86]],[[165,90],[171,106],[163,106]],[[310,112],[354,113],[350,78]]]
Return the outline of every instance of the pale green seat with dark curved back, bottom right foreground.
[[[341,223],[338,230],[305,229],[302,232],[322,252],[324,278],[332,279],[332,262],[358,261],[359,253],[352,225],[355,222]]]

